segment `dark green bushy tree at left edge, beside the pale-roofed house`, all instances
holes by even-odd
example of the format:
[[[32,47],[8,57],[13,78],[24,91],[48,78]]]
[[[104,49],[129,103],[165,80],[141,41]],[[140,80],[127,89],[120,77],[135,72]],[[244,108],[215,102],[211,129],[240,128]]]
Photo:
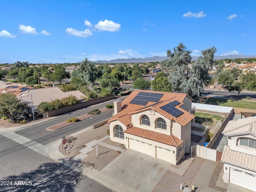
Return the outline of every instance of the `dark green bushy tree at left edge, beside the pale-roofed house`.
[[[0,94],[0,116],[8,117],[18,116],[25,109],[25,104],[21,102],[16,95],[12,93]]]

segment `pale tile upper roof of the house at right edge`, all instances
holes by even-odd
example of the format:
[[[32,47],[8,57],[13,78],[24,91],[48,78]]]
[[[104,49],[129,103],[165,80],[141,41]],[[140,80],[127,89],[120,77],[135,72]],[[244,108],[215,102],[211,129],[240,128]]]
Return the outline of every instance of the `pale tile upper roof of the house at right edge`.
[[[226,136],[252,134],[256,136],[256,117],[229,121],[222,133]]]

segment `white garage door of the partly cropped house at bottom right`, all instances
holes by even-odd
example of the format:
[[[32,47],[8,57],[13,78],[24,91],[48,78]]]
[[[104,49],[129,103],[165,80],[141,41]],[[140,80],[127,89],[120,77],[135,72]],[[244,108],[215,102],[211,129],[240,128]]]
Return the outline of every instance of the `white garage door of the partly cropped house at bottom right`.
[[[255,191],[256,174],[230,168],[230,183]]]

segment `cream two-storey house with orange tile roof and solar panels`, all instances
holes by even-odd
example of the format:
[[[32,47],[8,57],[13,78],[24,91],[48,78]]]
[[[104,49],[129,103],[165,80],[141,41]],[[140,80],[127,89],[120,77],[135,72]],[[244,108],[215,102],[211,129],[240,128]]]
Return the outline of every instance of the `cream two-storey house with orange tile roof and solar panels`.
[[[114,102],[110,139],[176,165],[190,153],[192,101],[186,94],[133,91]]]

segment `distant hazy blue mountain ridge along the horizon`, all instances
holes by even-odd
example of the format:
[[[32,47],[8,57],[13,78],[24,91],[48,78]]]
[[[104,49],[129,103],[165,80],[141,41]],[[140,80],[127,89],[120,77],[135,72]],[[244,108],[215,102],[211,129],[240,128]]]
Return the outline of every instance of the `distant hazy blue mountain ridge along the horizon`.
[[[214,59],[244,59],[254,58],[255,55],[226,55],[226,56],[214,56]],[[197,60],[198,57],[192,56],[192,60]],[[95,63],[144,63],[144,62],[160,62],[168,59],[168,57],[147,57],[147,58],[128,58],[128,59],[114,59],[110,61],[96,61]]]

